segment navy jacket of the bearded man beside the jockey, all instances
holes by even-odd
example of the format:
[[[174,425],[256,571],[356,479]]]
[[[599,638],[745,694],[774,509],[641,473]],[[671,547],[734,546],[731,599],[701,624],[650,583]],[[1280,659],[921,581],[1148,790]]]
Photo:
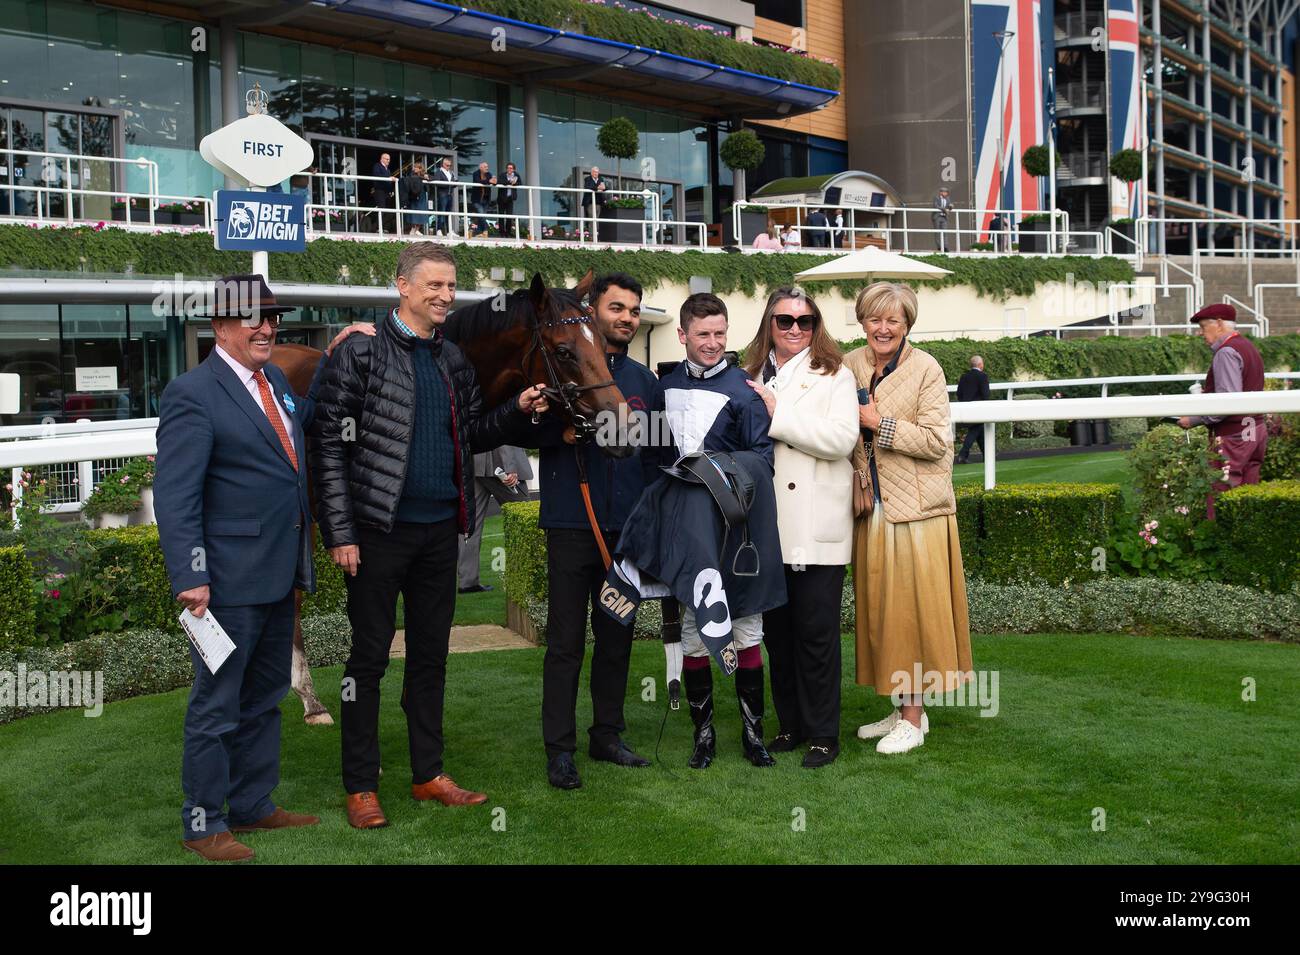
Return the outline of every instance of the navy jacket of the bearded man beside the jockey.
[[[663,407],[659,379],[649,368],[629,359],[627,350],[606,355],[606,360],[614,374],[614,383],[623,392],[630,412],[650,412],[656,405]],[[508,443],[540,450],[542,512],[538,525],[588,530],[592,524],[582,505],[573,446],[564,443],[564,422],[554,411],[555,401],[551,401],[547,420],[517,431]],[[649,433],[651,429],[642,430]],[[632,513],[641,491],[660,477],[655,466],[658,457],[641,450],[630,457],[616,460],[602,453],[595,442],[585,442],[578,448],[586,461],[592,509],[595,511],[601,529],[610,531],[607,539],[612,541]]]

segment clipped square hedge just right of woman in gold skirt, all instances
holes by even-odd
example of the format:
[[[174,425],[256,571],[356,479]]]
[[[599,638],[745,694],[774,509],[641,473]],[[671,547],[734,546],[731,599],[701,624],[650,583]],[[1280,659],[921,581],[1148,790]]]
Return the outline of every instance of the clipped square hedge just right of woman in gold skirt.
[[[997,582],[1096,577],[1122,500],[1117,485],[1000,485],[979,495],[982,533],[962,555],[974,543],[980,576]]]

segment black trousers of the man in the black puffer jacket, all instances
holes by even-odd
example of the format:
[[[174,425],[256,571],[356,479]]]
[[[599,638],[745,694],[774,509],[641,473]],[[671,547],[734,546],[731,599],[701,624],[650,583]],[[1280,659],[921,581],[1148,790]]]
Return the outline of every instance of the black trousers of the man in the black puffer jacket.
[[[380,787],[380,681],[389,668],[398,594],[406,613],[406,677],[402,709],[411,746],[411,782],[442,773],[442,698],[447,644],[456,609],[456,521],[394,524],[385,534],[361,526],[361,564],[347,583],[352,654],[343,670],[339,706],[343,787]]]

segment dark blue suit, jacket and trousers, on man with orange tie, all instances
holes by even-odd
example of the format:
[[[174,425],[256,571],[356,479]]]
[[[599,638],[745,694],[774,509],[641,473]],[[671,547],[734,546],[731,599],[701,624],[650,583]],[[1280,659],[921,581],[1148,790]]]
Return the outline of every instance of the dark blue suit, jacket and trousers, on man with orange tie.
[[[287,409],[283,373],[272,365],[263,372]],[[302,465],[309,407],[290,400]],[[316,585],[311,511],[306,468],[294,470],[261,405],[216,351],[162,392],[157,446],[155,511],[172,591],[207,583],[209,609],[235,644],[214,674],[190,651],[182,825],[185,838],[196,839],[276,808],[294,587]]]

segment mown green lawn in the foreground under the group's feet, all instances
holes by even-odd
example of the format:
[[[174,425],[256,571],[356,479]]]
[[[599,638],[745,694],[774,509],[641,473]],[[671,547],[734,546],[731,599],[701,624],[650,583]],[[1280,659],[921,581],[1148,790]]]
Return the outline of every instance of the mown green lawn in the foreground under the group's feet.
[[[852,641],[845,673],[852,673]],[[541,650],[454,655],[447,768],[490,800],[416,804],[398,695],[385,680],[381,739],[389,829],[347,828],[335,728],[283,704],[282,804],[315,829],[247,837],[263,863],[1291,863],[1300,861],[1300,647],[1127,635],[992,635],[975,665],[1000,674],[1000,712],[933,708],[928,741],[879,756],[854,737],[887,706],[845,683],[844,752],[805,770],[740,755],[719,678],[719,758],[685,767],[690,721],[668,717],[659,764],[629,770],[580,752],[584,787],[546,785]],[[316,673],[338,712],[339,669]],[[663,652],[632,656],[628,739],[653,756]],[[1242,700],[1256,681],[1258,702]],[[852,677],[849,678],[852,680]],[[183,690],[0,726],[0,863],[192,863],[179,838]],[[590,698],[578,695],[578,725]],[[775,722],[768,722],[768,735]],[[580,730],[580,735],[585,735]],[[1106,813],[1093,829],[1095,808]],[[493,828],[504,821],[504,830]],[[793,824],[803,820],[797,830]]]

